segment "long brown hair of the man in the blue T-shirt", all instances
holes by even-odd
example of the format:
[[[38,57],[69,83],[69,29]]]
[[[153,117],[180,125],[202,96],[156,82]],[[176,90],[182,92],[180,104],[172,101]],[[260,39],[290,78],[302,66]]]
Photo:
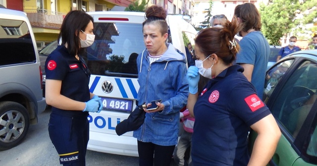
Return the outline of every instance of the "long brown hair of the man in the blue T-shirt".
[[[261,31],[261,15],[253,3],[243,3],[237,5],[234,9],[234,16],[241,19],[243,23],[243,31],[247,32],[249,29]]]

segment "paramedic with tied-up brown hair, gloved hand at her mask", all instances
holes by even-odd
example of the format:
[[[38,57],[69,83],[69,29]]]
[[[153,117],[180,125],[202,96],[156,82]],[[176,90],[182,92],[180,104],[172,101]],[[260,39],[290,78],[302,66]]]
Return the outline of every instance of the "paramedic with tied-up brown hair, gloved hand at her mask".
[[[187,107],[195,117],[192,136],[193,166],[266,166],[281,132],[255,87],[232,65],[239,45],[234,35],[241,29],[235,19],[223,27],[207,28],[195,39],[196,66],[187,71]],[[197,93],[199,74],[211,79]],[[258,133],[252,155],[248,131]]]

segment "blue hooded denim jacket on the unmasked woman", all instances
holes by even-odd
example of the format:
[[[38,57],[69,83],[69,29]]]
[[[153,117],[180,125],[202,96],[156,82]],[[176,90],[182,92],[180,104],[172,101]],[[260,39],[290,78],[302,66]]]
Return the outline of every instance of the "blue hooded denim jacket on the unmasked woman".
[[[165,108],[147,113],[144,124],[133,132],[139,141],[162,146],[177,144],[179,111],[186,106],[188,97],[186,57],[172,44],[167,46],[166,52],[151,65],[148,50],[137,58],[140,84],[137,100],[150,103],[161,99]]]

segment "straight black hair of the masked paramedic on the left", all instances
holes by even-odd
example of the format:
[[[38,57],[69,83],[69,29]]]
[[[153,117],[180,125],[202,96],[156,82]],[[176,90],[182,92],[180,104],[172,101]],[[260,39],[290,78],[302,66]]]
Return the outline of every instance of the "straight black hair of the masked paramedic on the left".
[[[80,30],[85,31],[88,23],[94,19],[92,16],[81,10],[72,10],[65,16],[58,39],[61,39],[61,44],[67,43],[67,50],[71,56],[80,53]]]

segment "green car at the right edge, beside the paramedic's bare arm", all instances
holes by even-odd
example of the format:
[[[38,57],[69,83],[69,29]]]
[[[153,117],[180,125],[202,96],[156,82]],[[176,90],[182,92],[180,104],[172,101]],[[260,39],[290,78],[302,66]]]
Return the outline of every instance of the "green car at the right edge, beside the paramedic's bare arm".
[[[316,99],[317,50],[294,52],[266,72],[264,102],[282,132],[270,166],[317,166]],[[251,131],[251,145],[255,137]]]

